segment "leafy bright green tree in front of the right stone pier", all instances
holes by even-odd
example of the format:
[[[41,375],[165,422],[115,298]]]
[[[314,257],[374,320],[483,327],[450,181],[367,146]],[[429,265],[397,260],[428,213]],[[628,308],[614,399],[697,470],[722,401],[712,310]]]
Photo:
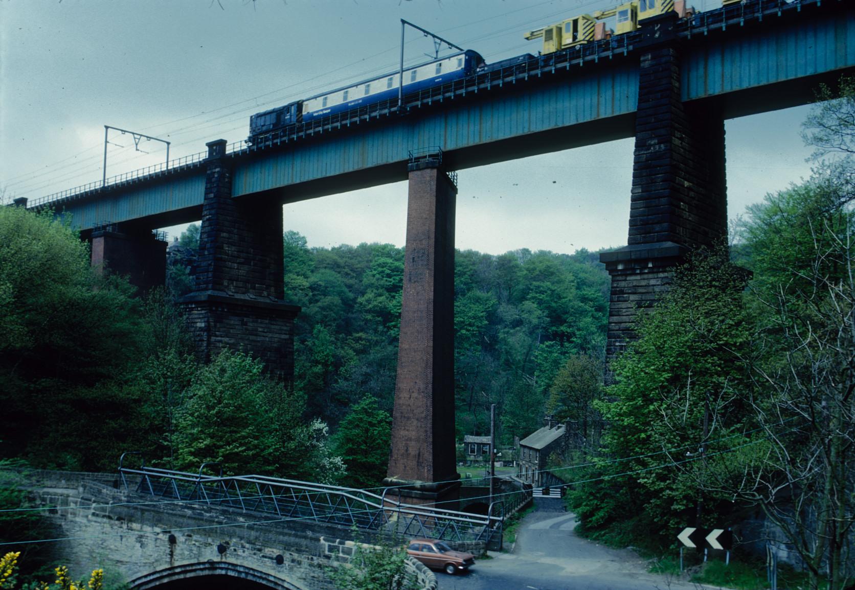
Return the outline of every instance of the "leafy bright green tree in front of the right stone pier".
[[[691,467],[667,468],[677,458],[659,452],[677,447],[697,452],[711,438],[739,427],[739,418],[728,418],[742,411],[736,392],[749,381],[745,367],[734,362],[734,351],[743,348],[750,333],[742,303],[745,280],[726,250],[695,254],[677,270],[669,294],[640,319],[639,340],[614,364],[616,384],[608,388],[609,401],[595,402],[608,424],[604,456],[637,459],[594,460],[590,476],[607,479],[582,484],[570,494],[582,530],[600,532],[598,538],[609,542],[669,546],[672,532],[694,521],[699,501],[708,507],[702,517],[722,524],[721,513],[709,510],[720,499],[699,494]],[[577,374],[582,371],[576,363],[570,366]],[[569,387],[578,379],[572,372],[564,377]],[[705,437],[708,406],[722,421]],[[649,535],[651,530],[661,536]]]

